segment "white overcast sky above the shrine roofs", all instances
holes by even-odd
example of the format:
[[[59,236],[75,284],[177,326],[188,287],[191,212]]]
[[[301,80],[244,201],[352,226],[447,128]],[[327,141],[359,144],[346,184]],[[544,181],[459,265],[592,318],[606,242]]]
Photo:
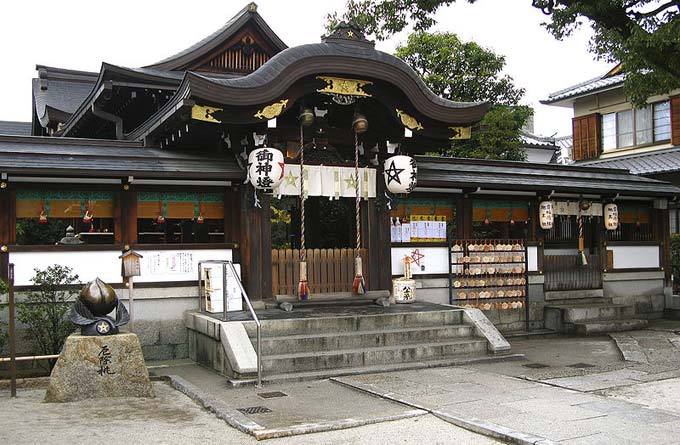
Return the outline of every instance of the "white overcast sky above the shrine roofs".
[[[248,2],[194,1],[11,1],[0,26],[2,60],[0,120],[31,119],[35,65],[99,71],[101,62],[148,65],[174,54],[220,28]],[[324,18],[344,0],[259,0],[258,12],[288,46],[319,41]],[[546,107],[548,93],[605,73],[609,65],[588,52],[588,31],[556,41],[540,26],[544,16],[530,0],[462,0],[441,8],[438,31],[506,56],[506,72],[526,89],[535,107],[536,133],[571,132],[570,109]],[[377,48],[392,52],[406,33]]]

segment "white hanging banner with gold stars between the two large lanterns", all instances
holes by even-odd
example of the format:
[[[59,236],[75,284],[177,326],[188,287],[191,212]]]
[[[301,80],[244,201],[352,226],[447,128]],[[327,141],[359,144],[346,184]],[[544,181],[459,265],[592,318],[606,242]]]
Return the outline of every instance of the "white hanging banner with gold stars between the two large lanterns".
[[[375,198],[376,170],[359,169],[359,196]],[[355,197],[354,167],[305,165],[305,193],[330,199]],[[283,180],[274,189],[274,196],[300,196],[300,165],[286,164]]]

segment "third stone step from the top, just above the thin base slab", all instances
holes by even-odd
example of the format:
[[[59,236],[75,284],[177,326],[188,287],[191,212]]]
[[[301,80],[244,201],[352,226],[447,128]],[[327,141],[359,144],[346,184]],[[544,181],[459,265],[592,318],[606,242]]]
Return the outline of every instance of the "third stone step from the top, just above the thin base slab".
[[[268,373],[286,373],[356,368],[443,359],[456,355],[486,354],[486,351],[486,339],[457,339],[411,345],[265,355],[262,357],[262,369]]]

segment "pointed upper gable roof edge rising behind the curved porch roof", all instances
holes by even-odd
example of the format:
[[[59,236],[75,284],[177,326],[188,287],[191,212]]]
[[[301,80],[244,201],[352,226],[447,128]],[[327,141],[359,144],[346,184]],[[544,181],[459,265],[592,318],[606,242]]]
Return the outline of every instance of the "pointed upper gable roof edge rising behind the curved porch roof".
[[[262,16],[257,12],[257,5],[249,3],[241,9],[238,14],[232,17],[223,27],[210,34],[203,40],[196,42],[190,47],[167,57],[160,62],[147,65],[144,68],[156,68],[161,70],[179,70],[187,67],[191,62],[203,58],[211,51],[219,48],[227,40],[233,37],[248,22],[252,22],[255,27],[270,41],[277,51],[282,51],[288,46],[276,35],[267,25]]]

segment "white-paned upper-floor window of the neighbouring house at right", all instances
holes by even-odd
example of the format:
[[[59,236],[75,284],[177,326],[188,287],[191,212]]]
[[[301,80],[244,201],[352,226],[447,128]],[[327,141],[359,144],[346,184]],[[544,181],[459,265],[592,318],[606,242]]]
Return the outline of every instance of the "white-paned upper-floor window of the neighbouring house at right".
[[[602,149],[647,145],[671,138],[670,102],[602,115]]]

